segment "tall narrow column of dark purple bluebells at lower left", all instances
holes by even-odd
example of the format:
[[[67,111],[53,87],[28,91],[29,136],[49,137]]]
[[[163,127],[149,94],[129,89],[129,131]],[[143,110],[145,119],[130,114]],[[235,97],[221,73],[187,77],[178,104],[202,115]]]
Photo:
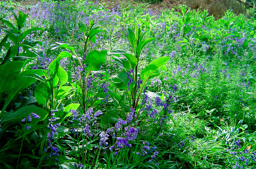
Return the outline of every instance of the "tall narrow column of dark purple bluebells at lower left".
[[[47,147],[44,148],[44,152],[47,152],[48,149],[52,150],[51,153],[49,154],[49,158],[51,158],[52,156],[58,155],[58,152],[59,152],[58,147],[55,147],[52,145],[52,140],[54,140],[54,136],[58,134],[57,128],[59,126],[61,126],[60,123],[54,124],[54,122],[56,121],[56,117],[54,117],[55,112],[58,112],[58,109],[52,110],[51,116],[48,119],[49,123],[47,125],[47,129],[49,130],[49,132],[47,133]],[[45,157],[45,158],[47,158],[47,157]]]

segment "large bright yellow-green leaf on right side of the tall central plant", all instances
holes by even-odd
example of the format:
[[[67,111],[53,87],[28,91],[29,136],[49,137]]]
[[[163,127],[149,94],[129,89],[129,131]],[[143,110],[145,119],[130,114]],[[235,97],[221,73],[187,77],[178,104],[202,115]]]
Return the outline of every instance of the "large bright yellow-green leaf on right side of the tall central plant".
[[[149,63],[140,73],[140,79],[143,80],[143,85],[145,85],[146,81],[154,74],[155,71],[158,71],[160,67],[165,65],[170,57],[160,57],[157,58],[151,63]]]

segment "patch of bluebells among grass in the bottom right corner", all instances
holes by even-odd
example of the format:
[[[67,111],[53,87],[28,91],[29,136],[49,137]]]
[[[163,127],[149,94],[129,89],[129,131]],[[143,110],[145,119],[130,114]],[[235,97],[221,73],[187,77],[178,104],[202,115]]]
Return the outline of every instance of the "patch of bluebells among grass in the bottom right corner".
[[[250,166],[252,163],[256,163],[256,151],[251,152],[250,146],[241,150],[242,142],[240,139],[235,140],[235,145],[231,148],[227,148],[226,152],[230,153],[235,159],[233,161],[233,169],[244,169]]]

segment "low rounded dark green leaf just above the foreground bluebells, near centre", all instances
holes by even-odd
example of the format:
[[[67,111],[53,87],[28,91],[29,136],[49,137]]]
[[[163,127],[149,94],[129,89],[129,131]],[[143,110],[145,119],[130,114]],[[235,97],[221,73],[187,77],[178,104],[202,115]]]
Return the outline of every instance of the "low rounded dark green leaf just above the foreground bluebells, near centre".
[[[113,126],[113,123],[116,123],[118,120],[118,117],[115,112],[109,112],[102,116],[100,120],[100,126],[102,129],[108,129],[111,126]]]

